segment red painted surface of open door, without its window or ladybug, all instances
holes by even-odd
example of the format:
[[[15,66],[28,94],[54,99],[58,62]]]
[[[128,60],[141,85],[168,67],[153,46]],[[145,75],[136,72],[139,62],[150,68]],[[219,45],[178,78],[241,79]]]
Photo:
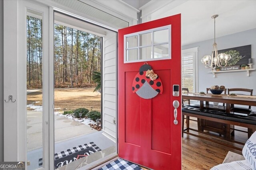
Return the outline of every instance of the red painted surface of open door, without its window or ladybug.
[[[171,25],[171,59],[147,61],[162,81],[162,94],[143,99],[133,93],[132,83],[145,62],[124,64],[124,35],[165,25]],[[172,86],[181,85],[180,57],[180,14],[118,30],[120,158],[154,170],[181,169],[181,106],[178,107],[178,125],[174,125],[172,105],[174,100],[181,105],[181,95],[172,95]]]

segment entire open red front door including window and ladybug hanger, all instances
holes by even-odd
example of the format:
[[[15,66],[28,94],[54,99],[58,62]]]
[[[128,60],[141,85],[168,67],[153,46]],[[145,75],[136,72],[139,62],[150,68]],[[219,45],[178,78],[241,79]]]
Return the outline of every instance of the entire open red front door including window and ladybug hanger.
[[[173,96],[173,85],[179,85],[181,94],[180,17],[178,14],[118,30],[118,155],[154,170],[181,169],[181,95]],[[157,32],[166,25],[170,25],[169,32]],[[155,32],[146,35],[145,30]],[[151,47],[143,36],[153,42]],[[157,42],[161,37],[170,40],[169,52],[164,49],[166,44]],[[145,76],[148,67],[141,67],[145,64],[157,74],[156,80]],[[180,102],[177,125],[174,100]]]

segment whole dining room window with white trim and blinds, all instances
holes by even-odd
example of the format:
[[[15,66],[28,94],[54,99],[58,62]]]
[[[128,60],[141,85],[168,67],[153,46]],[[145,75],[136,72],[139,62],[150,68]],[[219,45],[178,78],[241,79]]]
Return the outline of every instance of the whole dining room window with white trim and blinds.
[[[182,50],[182,88],[197,92],[198,47]]]

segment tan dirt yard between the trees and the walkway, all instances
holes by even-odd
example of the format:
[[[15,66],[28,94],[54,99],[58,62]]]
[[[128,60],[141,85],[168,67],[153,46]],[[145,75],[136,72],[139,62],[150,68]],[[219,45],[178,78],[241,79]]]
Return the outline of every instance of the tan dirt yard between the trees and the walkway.
[[[101,96],[98,92],[93,92],[94,88],[62,88],[54,90],[55,111],[63,112],[63,109],[74,110],[77,108],[87,108],[89,111],[100,111]],[[27,94],[27,104],[42,106],[42,91]],[[56,109],[57,108],[57,109]]]

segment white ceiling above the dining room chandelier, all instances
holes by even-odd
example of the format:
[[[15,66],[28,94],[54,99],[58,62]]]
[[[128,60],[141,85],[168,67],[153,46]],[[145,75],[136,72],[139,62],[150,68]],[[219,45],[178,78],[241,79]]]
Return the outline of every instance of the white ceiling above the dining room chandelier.
[[[256,0],[173,0],[150,16],[156,20],[175,14],[182,15],[182,45],[213,39],[214,14],[219,15],[216,37],[256,28]]]

